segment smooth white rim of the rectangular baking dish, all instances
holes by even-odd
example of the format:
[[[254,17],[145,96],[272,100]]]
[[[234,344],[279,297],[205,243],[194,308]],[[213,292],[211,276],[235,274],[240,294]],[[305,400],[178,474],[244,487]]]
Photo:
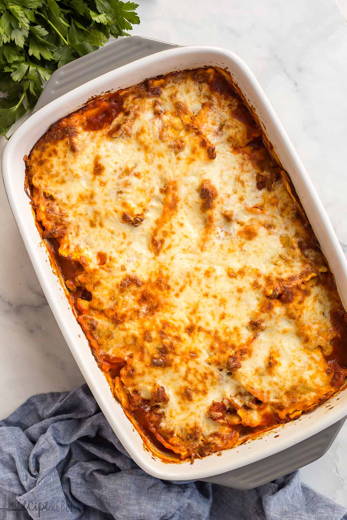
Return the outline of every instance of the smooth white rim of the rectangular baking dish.
[[[21,208],[18,205],[18,200],[17,200],[18,193],[16,191],[15,184],[11,179],[11,169],[13,167],[14,157],[16,154],[18,154],[18,149],[20,149],[20,147],[21,147],[20,144],[22,144],[23,141],[25,142],[25,136],[28,134],[28,132],[30,132],[30,129],[35,128],[35,126],[44,128],[43,130],[40,130],[40,135],[42,135],[46,131],[47,127],[57,120],[57,118],[55,116],[52,117],[52,114],[54,113],[54,111],[67,107],[69,105],[69,103],[68,103],[69,101],[73,102],[77,98],[85,96],[85,101],[84,101],[84,103],[85,103],[85,102],[87,102],[88,97],[90,97],[90,93],[96,92],[98,90],[98,87],[100,87],[100,85],[102,86],[102,84],[105,84],[107,81],[111,81],[111,80],[115,80],[115,82],[117,83],[117,80],[118,80],[118,82],[121,81],[121,77],[124,76],[126,73],[129,74],[131,72],[142,71],[144,74],[143,79],[145,79],[146,77],[152,77],[152,74],[150,76],[146,75],[146,73],[145,73],[146,70],[150,69],[150,67],[153,66],[153,64],[160,64],[160,66],[164,66],[165,61],[169,60],[170,57],[172,58],[173,56],[176,56],[178,58],[183,58],[183,60],[184,60],[184,58],[190,57],[191,58],[190,61],[194,61],[194,58],[197,58],[197,60],[199,61],[199,56],[201,57],[204,53],[214,56],[216,58],[216,62],[220,61],[217,58],[221,58],[221,57],[224,58],[225,60],[229,60],[229,63],[232,62],[247,77],[247,79],[250,82],[250,85],[253,89],[253,93],[256,96],[258,96],[258,98],[262,101],[267,118],[271,121],[271,123],[275,127],[275,129],[278,133],[278,136],[279,136],[282,144],[284,145],[284,148],[286,149],[291,160],[295,164],[299,177],[301,177],[301,180],[306,185],[307,189],[309,189],[309,191],[310,191],[313,207],[318,216],[319,225],[322,226],[322,229],[329,236],[329,241],[330,241],[329,245],[331,245],[333,247],[333,252],[336,254],[337,261],[340,263],[341,270],[343,271],[344,277],[347,280],[346,258],[343,254],[342,248],[340,246],[340,243],[338,242],[335,232],[333,231],[332,225],[327,217],[325,209],[318,198],[318,195],[316,193],[316,190],[312,184],[312,181],[311,181],[309,175],[307,174],[284,127],[280,123],[277,114],[275,113],[273,107],[271,106],[271,103],[269,102],[268,98],[266,97],[265,93],[263,92],[263,89],[261,88],[258,80],[256,80],[254,74],[250,71],[248,66],[231,51],[228,51],[228,50],[225,50],[225,49],[222,49],[219,47],[210,47],[210,46],[174,47],[172,49],[163,50],[154,55],[140,58],[137,61],[128,63],[118,69],[107,72],[106,74],[103,74],[103,75],[97,77],[96,79],[91,80],[87,83],[84,83],[80,87],[77,87],[77,88],[71,90],[70,93],[65,94],[65,95],[55,99],[54,101],[50,102],[48,105],[46,105],[45,107],[41,108],[36,113],[31,115],[30,118],[27,119],[26,121],[24,121],[22,123],[22,125],[17,129],[17,131],[10,137],[10,139],[5,147],[4,153],[3,153],[3,178],[4,178],[5,189],[6,189],[7,197],[8,197],[10,206],[11,206],[12,213],[15,216],[15,219],[16,219],[17,225],[19,227],[21,236],[23,238],[25,247],[27,248],[27,251],[31,258],[31,262],[34,266],[37,277],[40,280],[44,293],[47,297],[47,301],[50,305],[50,308],[53,311],[53,314],[57,320],[58,326],[59,326],[60,330],[62,331],[63,335],[65,336],[65,339],[69,345],[72,355],[74,356],[76,362],[78,363],[78,366],[81,369],[88,386],[91,388],[92,393],[94,394],[96,400],[98,401],[98,404],[99,404],[101,410],[106,415],[106,418],[108,419],[112,429],[115,431],[116,435],[118,436],[119,440],[123,444],[124,448],[128,451],[128,453],[130,453],[131,457],[135,460],[135,462],[140,467],[142,467],[142,469],[144,469],[147,473],[151,474],[152,476],[155,476],[158,478],[163,478],[163,479],[173,479],[173,480],[179,480],[179,479],[192,480],[192,479],[209,477],[212,475],[225,473],[227,471],[234,470],[234,469],[237,469],[238,467],[248,465],[252,462],[266,458],[268,456],[271,456],[272,454],[278,453],[279,451],[289,448],[290,446],[293,446],[293,445],[299,443],[301,440],[311,437],[312,435],[324,430],[326,427],[330,426],[331,424],[333,424],[333,423],[339,421],[340,419],[342,419],[343,417],[345,417],[345,415],[347,414],[347,400],[343,399],[346,401],[344,403],[344,406],[341,406],[341,404],[342,404],[342,402],[341,402],[339,404],[339,406],[334,406],[332,409],[327,410],[327,412],[329,411],[329,413],[326,412],[323,415],[321,414],[322,417],[320,417],[318,422],[313,421],[311,425],[305,424],[305,427],[301,428],[301,431],[300,431],[300,428],[297,428],[297,434],[295,436],[283,435],[281,439],[276,439],[276,443],[273,446],[271,446],[272,443],[270,442],[270,443],[267,443],[267,446],[263,446],[262,450],[259,450],[259,449],[257,450],[256,446],[258,443],[256,443],[256,439],[252,439],[251,443],[254,446],[254,449],[248,450],[248,453],[245,452],[245,454],[243,454],[243,458],[240,463],[237,462],[236,464],[233,464],[232,457],[227,457],[227,456],[223,457],[223,454],[225,452],[233,452],[233,450],[237,449],[237,448],[232,448],[232,449],[225,450],[224,452],[222,452],[222,457],[220,457],[220,460],[217,459],[216,454],[213,454],[207,458],[204,458],[202,461],[200,461],[200,460],[195,461],[194,465],[189,465],[189,464],[187,464],[187,462],[166,463],[166,462],[160,461],[159,466],[161,466],[161,467],[160,468],[154,467],[154,464],[151,462],[152,454],[150,453],[148,456],[148,454],[145,452],[143,447],[142,447],[142,452],[140,452],[137,449],[132,438],[128,438],[125,435],[126,432],[124,430],[122,430],[122,427],[120,427],[117,424],[117,421],[115,420],[117,418],[115,418],[114,415],[112,415],[113,411],[111,413],[111,410],[109,409],[109,403],[107,402],[108,399],[106,399],[106,397],[104,395],[104,389],[102,389],[101,385],[99,384],[100,380],[96,381],[98,378],[96,376],[94,376],[94,374],[90,373],[91,371],[89,371],[89,368],[87,368],[88,363],[85,362],[82,352],[79,352],[79,350],[75,346],[76,337],[73,337],[73,334],[70,332],[70,330],[68,330],[66,324],[63,322],[62,317],[60,316],[61,309],[60,309],[60,304],[58,304],[57,301],[55,300],[55,294],[54,294],[55,289],[52,288],[52,284],[51,284],[50,280],[46,279],[43,266],[41,265],[41,261],[38,260],[38,258],[37,258],[37,251],[35,248],[35,244],[32,243],[29,238],[29,232],[27,231],[28,223],[25,222],[24,213],[21,212]],[[215,63],[211,62],[211,66],[213,66],[213,64],[215,64]],[[198,66],[198,65],[195,65],[194,63],[192,63],[190,66],[187,66],[185,64],[185,66],[182,66],[181,68],[178,67],[175,70],[184,70],[186,68],[192,68],[195,66]],[[227,66],[225,68],[227,68]],[[166,72],[162,72],[162,73],[166,73]],[[128,84],[130,85],[130,84],[136,84],[136,83],[138,83],[138,81],[128,83]],[[114,90],[116,91],[119,88],[122,88],[122,87],[116,86],[114,88]],[[84,103],[82,103],[82,104],[84,104]],[[79,106],[81,106],[81,105],[79,105]],[[65,112],[65,115],[67,115],[68,113],[71,113],[76,108],[78,108],[78,106],[75,106],[74,109],[68,108],[67,111]],[[62,116],[63,115],[61,115],[60,117],[62,117]],[[44,126],[42,126],[43,121],[49,121],[48,125],[44,124]],[[266,128],[264,130],[266,132]],[[271,141],[271,139],[270,139],[270,141]],[[24,171],[24,164],[23,164],[23,171]],[[290,177],[291,177],[291,175],[290,175]],[[24,176],[23,176],[23,178],[24,178]],[[298,195],[300,196],[300,193],[298,193]],[[28,199],[28,201],[29,201],[29,199]],[[310,215],[308,215],[308,216],[310,219]],[[33,220],[32,223],[35,226],[34,219],[32,219],[32,220]],[[36,228],[36,226],[35,226],[35,228]],[[315,228],[314,228],[314,230],[316,232]],[[37,233],[38,233],[38,231],[37,231]],[[40,239],[41,239],[41,237],[40,237]],[[322,249],[323,249],[323,246],[322,246]],[[336,276],[335,272],[334,272],[334,275]],[[339,283],[338,283],[339,280],[336,279],[336,281],[337,281],[338,288],[340,288]],[[341,282],[341,284],[342,284],[342,282]],[[62,289],[60,288],[60,290],[62,290]],[[339,292],[340,292],[340,290],[339,290]],[[344,295],[341,294],[341,292],[340,292],[340,296],[341,296],[342,301],[344,302],[344,298],[343,298]],[[346,296],[347,296],[347,293],[346,293]],[[64,293],[64,298],[67,300],[67,298],[65,297],[65,293]],[[73,317],[73,319],[75,320],[74,317]],[[89,345],[88,345],[88,348],[89,348]],[[94,361],[94,363],[95,363],[95,361]],[[101,371],[96,366],[96,363],[95,363],[95,367],[101,374]],[[103,374],[102,374],[102,376],[103,376]],[[108,388],[109,388],[109,386],[108,386]],[[109,391],[110,391],[110,389],[109,389]],[[337,396],[337,394],[334,395],[332,400],[335,399],[336,396]],[[112,397],[112,399],[114,399],[112,394],[111,394],[111,397]],[[330,402],[330,404],[331,404],[331,400],[328,402]],[[320,405],[320,407],[318,407],[318,409],[323,409],[324,407],[325,407],[324,405]],[[128,419],[126,418],[125,413],[124,413],[123,409],[120,407],[120,405],[119,405],[119,408],[121,410],[120,413],[124,414],[126,421],[128,421]],[[306,417],[309,417],[309,416],[311,417],[311,415],[313,415],[315,413],[315,411],[311,412],[311,414],[306,414]],[[128,422],[130,423],[130,421],[128,421]],[[291,425],[296,424],[297,422],[298,421],[295,421],[295,422],[291,421],[290,423],[286,424],[284,426],[284,428],[286,428],[286,427],[288,428]],[[306,422],[308,422],[308,421],[306,421]],[[265,435],[270,435],[271,432],[275,432],[275,431],[277,432],[278,430],[279,430],[279,427],[275,428],[275,430],[272,430],[270,432],[265,432],[261,436],[264,437]],[[136,434],[136,432],[135,432],[135,434]],[[249,448],[252,448],[252,445]],[[242,446],[244,446],[244,444]],[[261,453],[257,454],[258,451],[261,451]],[[145,456],[145,453],[146,453],[146,456]],[[212,464],[212,458],[214,459],[214,462],[215,462],[214,465]],[[230,459],[230,460],[228,460],[228,459]],[[156,459],[156,460],[158,462],[158,460],[160,460],[160,459]],[[209,464],[209,462],[210,462],[210,464]],[[211,467],[211,466],[213,466],[213,467]]]

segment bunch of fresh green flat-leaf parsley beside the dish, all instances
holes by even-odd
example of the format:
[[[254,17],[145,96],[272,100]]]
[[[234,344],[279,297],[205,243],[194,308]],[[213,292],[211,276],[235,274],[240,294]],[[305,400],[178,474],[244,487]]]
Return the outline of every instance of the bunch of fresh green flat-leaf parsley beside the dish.
[[[58,67],[91,53],[140,22],[133,2],[0,0],[0,135],[42,92]]]

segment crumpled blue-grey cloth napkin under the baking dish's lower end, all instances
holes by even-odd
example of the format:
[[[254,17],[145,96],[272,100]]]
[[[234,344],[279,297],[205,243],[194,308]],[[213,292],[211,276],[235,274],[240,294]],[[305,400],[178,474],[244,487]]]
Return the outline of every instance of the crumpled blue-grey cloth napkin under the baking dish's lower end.
[[[300,473],[240,491],[166,482],[128,456],[86,384],[30,397],[0,421],[1,520],[347,520]]]

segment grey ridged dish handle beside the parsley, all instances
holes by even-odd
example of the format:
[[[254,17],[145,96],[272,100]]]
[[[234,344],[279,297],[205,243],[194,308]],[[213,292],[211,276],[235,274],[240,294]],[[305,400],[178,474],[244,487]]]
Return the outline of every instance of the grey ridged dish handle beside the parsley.
[[[100,47],[93,53],[57,69],[50,76],[33,113],[72,89],[94,80],[95,77],[118,69],[126,63],[172,47],[178,47],[178,45],[152,40],[144,36],[126,36],[117,42]]]

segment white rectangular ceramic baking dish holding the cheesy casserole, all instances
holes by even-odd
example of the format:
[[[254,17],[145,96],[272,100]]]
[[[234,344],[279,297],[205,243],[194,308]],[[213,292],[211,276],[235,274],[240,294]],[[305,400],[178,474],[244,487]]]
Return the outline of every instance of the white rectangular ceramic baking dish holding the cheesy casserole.
[[[128,38],[128,41],[131,41],[131,38]],[[122,45],[124,44],[122,43]],[[35,226],[29,199],[23,190],[24,164],[22,158],[29,153],[38,137],[57,119],[80,107],[90,97],[107,90],[118,90],[139,83],[146,77],[204,65],[228,69],[249,105],[258,116],[269,142],[272,143],[275,153],[293,181],[322,250],[328,259],[330,268],[335,274],[341,300],[345,305],[347,263],[325,210],[260,85],[247,66],[229,51],[212,47],[176,47],[164,50],[158,54],[140,58],[116,70],[111,70],[75,88],[72,92],[62,95],[34,113],[11,137],[3,155],[3,176],[12,212],[48,303],[100,408],[104,411],[113,430],[132,458],[145,471],[162,479],[203,478],[226,485],[234,485],[235,487],[252,487],[255,485],[254,479],[237,485],[237,478],[241,482],[240,470],[237,473],[238,476],[234,473],[234,477],[237,477],[234,480],[231,478],[232,475],[226,472],[245,466],[250,469],[252,463],[268,457],[266,464],[258,463],[258,470],[256,469],[257,466],[253,465],[252,470],[254,474],[254,472],[259,472],[259,467],[263,468],[264,465],[271,467],[273,470],[271,476],[268,471],[263,472],[259,477],[260,480],[258,478],[258,481],[256,481],[258,484],[266,482],[279,474],[295,469],[295,467],[285,464],[281,465],[281,461],[288,460],[288,449],[291,446],[298,445],[304,439],[307,439],[306,449],[297,450],[295,464],[302,465],[315,460],[323,454],[324,449],[327,449],[329,442],[322,444],[322,436],[319,437],[320,443],[317,441],[317,437],[311,437],[316,436],[318,432],[325,430],[325,428],[330,428],[325,430],[325,432],[330,432],[330,437],[325,433],[325,437],[328,436],[329,438],[338,431],[341,419],[347,414],[346,393],[336,394],[325,405],[310,414],[303,415],[301,419],[277,427],[271,432],[267,432],[261,437],[234,449],[223,451],[221,456],[213,454],[203,460],[195,461],[193,465],[165,463],[160,459],[153,458],[150,452],[144,450],[142,439],[137,432],[134,432],[133,426],[125,417],[121,406],[114,401],[109,385],[95,363],[89,345],[72,314],[63,288],[50,267],[46,248],[42,244]],[[336,425],[335,423],[338,422],[340,423]],[[303,453],[307,452],[307,442],[311,447],[309,450],[311,455],[314,453],[314,458],[309,460],[307,460],[307,457],[306,459],[303,457]],[[300,446],[303,447],[304,445],[300,444]],[[275,453],[282,450],[286,450],[282,457],[273,459]],[[293,452],[290,451],[290,453]],[[275,460],[276,462],[274,462]],[[298,462],[300,460],[301,464]],[[274,469],[274,465],[276,469]],[[230,478],[227,479],[227,475]]]

